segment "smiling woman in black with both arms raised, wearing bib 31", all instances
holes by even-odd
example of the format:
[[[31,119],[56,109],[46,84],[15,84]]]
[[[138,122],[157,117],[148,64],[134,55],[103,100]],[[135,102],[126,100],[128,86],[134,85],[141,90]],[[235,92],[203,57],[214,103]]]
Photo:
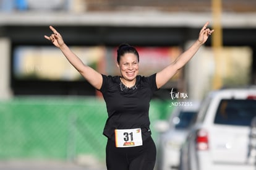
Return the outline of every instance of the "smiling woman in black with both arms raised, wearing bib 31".
[[[64,56],[80,74],[103,93],[108,119],[103,134],[108,137],[106,166],[110,170],[150,170],[155,166],[156,147],[151,138],[149,103],[155,90],[168,82],[197,52],[214,30],[205,23],[198,40],[187,51],[160,72],[144,77],[139,74],[139,54],[129,45],[117,49],[117,67],[120,76],[102,75],[83,64],[62,36],[52,26],[53,34],[46,36],[61,49]]]

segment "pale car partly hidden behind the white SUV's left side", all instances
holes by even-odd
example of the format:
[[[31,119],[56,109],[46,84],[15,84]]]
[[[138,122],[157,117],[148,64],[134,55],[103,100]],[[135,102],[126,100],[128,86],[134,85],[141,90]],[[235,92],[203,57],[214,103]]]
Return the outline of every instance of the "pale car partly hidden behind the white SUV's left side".
[[[190,106],[175,106],[168,122],[161,122],[162,125],[168,124],[168,126],[164,130],[158,130],[162,133],[158,138],[157,145],[157,170],[177,169],[179,167],[180,148],[186,140],[188,127],[192,124],[198,107],[198,102],[194,102]]]

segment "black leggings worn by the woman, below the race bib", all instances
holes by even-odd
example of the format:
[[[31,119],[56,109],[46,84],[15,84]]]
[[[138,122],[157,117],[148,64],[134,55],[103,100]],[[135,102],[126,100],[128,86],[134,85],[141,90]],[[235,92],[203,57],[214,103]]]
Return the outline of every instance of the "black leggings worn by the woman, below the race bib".
[[[140,147],[116,148],[113,140],[106,145],[108,170],[153,170],[156,161],[156,146],[151,137]]]

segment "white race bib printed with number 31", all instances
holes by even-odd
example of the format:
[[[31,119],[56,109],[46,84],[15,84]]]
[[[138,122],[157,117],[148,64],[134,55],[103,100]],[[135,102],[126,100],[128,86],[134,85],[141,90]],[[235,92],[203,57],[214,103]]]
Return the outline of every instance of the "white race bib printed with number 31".
[[[115,129],[115,142],[117,148],[142,146],[142,130],[139,129]]]

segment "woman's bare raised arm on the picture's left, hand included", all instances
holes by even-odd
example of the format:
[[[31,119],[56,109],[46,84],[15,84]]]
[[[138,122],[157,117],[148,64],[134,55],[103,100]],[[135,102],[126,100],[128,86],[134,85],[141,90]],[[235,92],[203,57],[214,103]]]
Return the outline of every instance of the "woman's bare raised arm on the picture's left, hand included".
[[[100,89],[103,79],[99,72],[92,69],[92,67],[86,66],[83,64],[83,62],[77,57],[70,49],[69,47],[64,43],[64,40],[62,39],[62,36],[55,28],[52,26],[49,26],[49,28],[53,31],[53,34],[50,36],[46,36],[45,38],[47,40],[50,40],[54,46],[61,49],[64,56],[67,58],[67,60],[72,64],[72,66],[79,71],[79,73],[96,89]]]

